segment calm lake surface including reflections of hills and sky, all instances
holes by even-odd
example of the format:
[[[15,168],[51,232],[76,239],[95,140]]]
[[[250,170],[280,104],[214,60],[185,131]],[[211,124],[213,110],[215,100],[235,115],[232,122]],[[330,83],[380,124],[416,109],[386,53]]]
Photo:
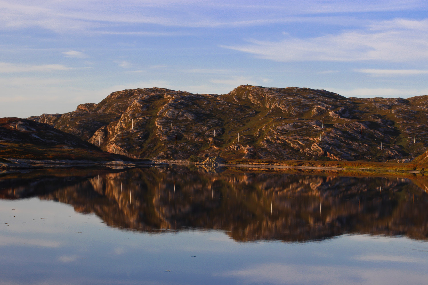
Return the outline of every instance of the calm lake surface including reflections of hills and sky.
[[[428,284],[423,177],[0,176],[0,284]]]

